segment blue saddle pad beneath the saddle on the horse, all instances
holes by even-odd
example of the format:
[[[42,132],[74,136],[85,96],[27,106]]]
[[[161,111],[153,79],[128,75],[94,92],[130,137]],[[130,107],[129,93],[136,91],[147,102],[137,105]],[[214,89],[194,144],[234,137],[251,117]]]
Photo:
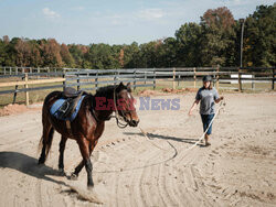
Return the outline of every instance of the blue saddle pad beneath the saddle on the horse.
[[[73,121],[73,120],[76,118],[77,113],[78,113],[78,110],[79,110],[79,108],[81,108],[81,106],[82,106],[82,102],[83,102],[84,97],[85,97],[85,95],[82,96],[82,97],[79,98],[79,100],[78,100],[78,102],[77,102],[77,105],[76,105],[76,109],[74,110],[74,112],[72,113],[72,116],[71,116],[70,118],[61,119],[60,116],[59,116],[59,109],[61,108],[61,106],[62,106],[62,105],[64,103],[64,101],[66,100],[66,99],[64,99],[64,98],[57,99],[57,100],[52,105],[52,107],[51,107],[51,109],[50,109],[50,113],[51,113],[52,116],[54,116],[56,119],[60,119],[60,120],[63,120],[63,121],[65,121],[65,120]]]

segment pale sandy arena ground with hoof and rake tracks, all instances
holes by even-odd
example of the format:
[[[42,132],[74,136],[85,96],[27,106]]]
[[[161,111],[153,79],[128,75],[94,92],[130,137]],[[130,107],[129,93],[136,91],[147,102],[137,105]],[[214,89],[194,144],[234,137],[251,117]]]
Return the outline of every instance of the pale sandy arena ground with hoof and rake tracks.
[[[180,98],[178,111],[138,111],[151,141],[108,121],[92,156],[92,192],[85,170],[78,181],[59,176],[59,133],[45,166],[36,165],[40,109],[0,117],[0,206],[276,206],[276,94],[224,97],[210,148],[185,151],[202,135],[198,111],[187,116],[194,92],[155,97]],[[67,141],[67,175],[79,161]]]

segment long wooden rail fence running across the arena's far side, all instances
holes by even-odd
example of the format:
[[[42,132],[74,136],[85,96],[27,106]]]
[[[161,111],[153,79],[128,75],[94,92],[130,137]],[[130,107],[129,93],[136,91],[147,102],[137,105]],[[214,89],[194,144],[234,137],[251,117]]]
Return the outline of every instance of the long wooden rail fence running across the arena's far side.
[[[0,90],[1,94],[25,92],[25,103],[29,105],[29,91],[52,88],[76,87],[77,90],[96,90],[104,85],[115,85],[120,81],[131,83],[132,88],[157,86],[159,80],[172,81],[172,88],[180,81],[197,81],[204,75],[211,75],[217,89],[225,88],[222,85],[237,84],[230,89],[243,90],[243,84],[270,83],[274,90],[275,67],[183,67],[183,68],[131,68],[131,69],[79,69],[79,68],[31,68],[31,67],[1,67],[0,66]],[[3,81],[4,78],[21,78],[19,81]],[[51,86],[39,86],[29,88],[30,85],[61,83]],[[18,86],[24,88],[18,89]],[[10,87],[15,87],[11,89]]]

